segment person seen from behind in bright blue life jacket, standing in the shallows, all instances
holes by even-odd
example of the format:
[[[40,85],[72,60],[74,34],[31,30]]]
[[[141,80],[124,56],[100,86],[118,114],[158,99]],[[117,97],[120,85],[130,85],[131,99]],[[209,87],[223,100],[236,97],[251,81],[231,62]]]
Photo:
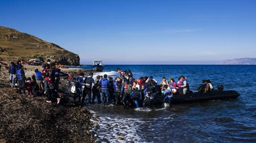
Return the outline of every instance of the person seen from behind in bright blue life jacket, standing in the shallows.
[[[107,77],[108,76],[104,74],[103,78],[98,83],[98,85],[101,85],[101,89],[102,89],[101,97],[102,97],[103,105],[105,104],[109,105],[109,91],[108,91],[109,80],[107,79]],[[106,98],[106,101],[105,101],[105,98]]]

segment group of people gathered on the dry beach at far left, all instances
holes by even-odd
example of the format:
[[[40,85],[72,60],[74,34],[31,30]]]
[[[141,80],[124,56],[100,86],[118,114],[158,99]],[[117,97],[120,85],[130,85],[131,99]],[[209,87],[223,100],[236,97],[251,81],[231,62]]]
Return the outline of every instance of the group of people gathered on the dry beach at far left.
[[[57,104],[60,103],[60,96],[58,94],[60,77],[68,76],[68,74],[61,72],[61,70],[52,65],[49,60],[43,64],[41,70],[36,69],[32,77],[25,77],[25,72],[20,60],[16,63],[11,62],[8,71],[10,74],[9,80],[11,88],[18,85],[19,94],[26,95],[27,90],[28,97],[33,97],[35,94],[44,94],[47,97],[48,103],[55,101]]]

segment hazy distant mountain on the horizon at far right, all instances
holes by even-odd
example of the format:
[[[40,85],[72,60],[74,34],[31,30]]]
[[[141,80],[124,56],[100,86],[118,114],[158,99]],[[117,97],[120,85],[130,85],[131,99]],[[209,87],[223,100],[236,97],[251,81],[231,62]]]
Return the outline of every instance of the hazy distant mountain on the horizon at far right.
[[[256,65],[256,58],[236,58],[233,60],[224,60],[218,65]]]

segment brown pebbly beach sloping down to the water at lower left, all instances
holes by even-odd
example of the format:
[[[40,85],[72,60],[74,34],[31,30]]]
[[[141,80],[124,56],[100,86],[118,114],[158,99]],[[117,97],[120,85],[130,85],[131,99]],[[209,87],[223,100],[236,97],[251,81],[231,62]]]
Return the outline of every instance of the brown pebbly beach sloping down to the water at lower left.
[[[26,77],[41,66],[24,65]],[[81,69],[61,69],[71,75]],[[45,96],[28,97],[11,88],[8,70],[0,70],[0,142],[94,142],[93,114],[73,105],[67,77],[61,77],[61,104],[46,103]],[[27,93],[27,91],[26,91]]]

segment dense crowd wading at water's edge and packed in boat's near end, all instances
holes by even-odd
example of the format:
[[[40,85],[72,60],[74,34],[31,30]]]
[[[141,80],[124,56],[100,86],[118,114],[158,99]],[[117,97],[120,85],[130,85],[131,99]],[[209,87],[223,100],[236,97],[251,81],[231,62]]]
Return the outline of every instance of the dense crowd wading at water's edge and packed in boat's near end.
[[[146,107],[157,102],[157,96],[164,96],[164,102],[171,105],[173,94],[187,94],[189,89],[187,78],[180,76],[178,82],[174,78],[163,77],[161,83],[152,77],[140,77],[135,79],[130,70],[117,69],[120,76],[113,80],[106,74],[93,79],[93,73],[84,77],[84,73],[79,73],[78,77],[71,79],[74,102],[83,107],[85,97],[88,96],[88,104],[94,104],[97,97],[98,103],[102,105],[122,104],[126,108],[135,106]],[[84,87],[84,88],[83,88]],[[77,100],[78,98],[78,100]]]

